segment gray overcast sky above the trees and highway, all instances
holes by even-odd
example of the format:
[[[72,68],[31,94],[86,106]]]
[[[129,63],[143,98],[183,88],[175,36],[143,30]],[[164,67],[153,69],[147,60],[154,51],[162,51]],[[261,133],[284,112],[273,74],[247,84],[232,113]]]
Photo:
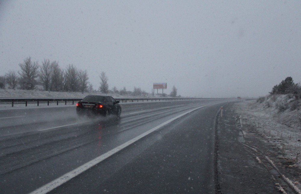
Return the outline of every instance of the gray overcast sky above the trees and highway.
[[[258,97],[301,81],[299,1],[1,1],[0,75],[31,56],[87,69],[99,87]]]

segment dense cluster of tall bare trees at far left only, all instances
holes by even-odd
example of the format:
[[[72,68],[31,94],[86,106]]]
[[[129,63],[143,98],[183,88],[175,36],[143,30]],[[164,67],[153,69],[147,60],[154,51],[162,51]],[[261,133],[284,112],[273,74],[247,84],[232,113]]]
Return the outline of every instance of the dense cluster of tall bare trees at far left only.
[[[41,84],[45,91],[84,92],[88,89],[87,70],[77,69],[73,64],[63,69],[57,61],[44,59],[39,65],[38,61],[33,62],[27,57],[19,67],[17,72],[8,71],[5,76],[0,76],[0,88],[5,88],[7,83],[11,89],[19,84],[23,90],[32,90],[37,84]]]

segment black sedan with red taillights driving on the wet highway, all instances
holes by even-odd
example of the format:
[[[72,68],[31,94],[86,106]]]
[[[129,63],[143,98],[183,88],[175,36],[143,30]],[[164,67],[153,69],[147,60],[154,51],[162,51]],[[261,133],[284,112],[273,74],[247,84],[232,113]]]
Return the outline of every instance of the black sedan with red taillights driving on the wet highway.
[[[77,115],[117,115],[120,117],[121,106],[119,100],[111,96],[88,95],[76,104]]]

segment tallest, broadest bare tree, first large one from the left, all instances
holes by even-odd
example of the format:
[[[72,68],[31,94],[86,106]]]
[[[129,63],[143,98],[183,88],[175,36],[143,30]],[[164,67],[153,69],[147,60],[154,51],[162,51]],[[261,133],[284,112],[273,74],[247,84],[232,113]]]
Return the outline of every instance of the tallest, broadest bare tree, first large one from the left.
[[[20,75],[20,87],[25,90],[32,90],[35,88],[36,79],[38,77],[38,62],[31,62],[31,57],[27,57],[24,63],[19,64],[21,70],[18,72]]]

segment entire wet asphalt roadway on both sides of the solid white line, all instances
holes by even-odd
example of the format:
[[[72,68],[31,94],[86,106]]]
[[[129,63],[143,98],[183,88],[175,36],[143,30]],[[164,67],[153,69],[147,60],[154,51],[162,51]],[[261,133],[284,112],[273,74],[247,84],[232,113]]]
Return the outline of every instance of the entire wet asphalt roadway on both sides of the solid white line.
[[[121,119],[77,118],[74,106],[0,110],[0,192],[32,192],[204,105],[52,192],[214,192],[214,121],[227,101],[123,103]]]

